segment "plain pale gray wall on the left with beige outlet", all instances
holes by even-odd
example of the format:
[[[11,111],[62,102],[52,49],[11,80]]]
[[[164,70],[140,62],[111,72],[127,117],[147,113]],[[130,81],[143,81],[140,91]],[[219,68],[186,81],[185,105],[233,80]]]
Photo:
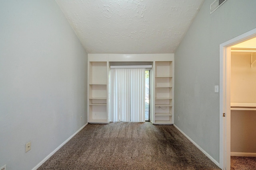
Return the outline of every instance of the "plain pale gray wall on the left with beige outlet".
[[[55,1],[0,4],[0,167],[30,170],[87,122],[87,54]]]

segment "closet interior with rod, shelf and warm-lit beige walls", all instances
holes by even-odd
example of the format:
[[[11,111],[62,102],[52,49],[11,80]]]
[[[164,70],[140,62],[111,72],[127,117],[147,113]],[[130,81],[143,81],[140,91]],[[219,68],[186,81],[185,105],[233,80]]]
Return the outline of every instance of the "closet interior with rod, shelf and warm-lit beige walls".
[[[231,156],[256,156],[256,38],[231,47]]]

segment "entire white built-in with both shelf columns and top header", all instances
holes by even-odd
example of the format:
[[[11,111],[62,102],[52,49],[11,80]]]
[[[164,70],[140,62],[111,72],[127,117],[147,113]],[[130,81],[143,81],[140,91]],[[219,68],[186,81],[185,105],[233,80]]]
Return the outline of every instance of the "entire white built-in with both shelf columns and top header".
[[[150,122],[174,123],[174,54],[88,54],[88,123],[110,121],[110,65],[145,62],[150,70]]]

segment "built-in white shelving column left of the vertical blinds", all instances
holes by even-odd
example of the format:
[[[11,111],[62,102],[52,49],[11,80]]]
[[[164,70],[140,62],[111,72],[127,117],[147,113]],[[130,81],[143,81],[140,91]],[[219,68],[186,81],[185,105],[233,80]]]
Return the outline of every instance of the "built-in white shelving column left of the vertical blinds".
[[[88,62],[88,123],[108,123],[107,73],[107,62]]]

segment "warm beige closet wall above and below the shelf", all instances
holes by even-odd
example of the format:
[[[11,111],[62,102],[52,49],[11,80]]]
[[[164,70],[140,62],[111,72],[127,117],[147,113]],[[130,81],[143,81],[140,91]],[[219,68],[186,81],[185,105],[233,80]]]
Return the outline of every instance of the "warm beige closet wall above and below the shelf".
[[[231,53],[231,102],[256,103],[256,64],[250,63],[251,54]],[[256,153],[255,120],[256,111],[231,111],[231,152]]]

